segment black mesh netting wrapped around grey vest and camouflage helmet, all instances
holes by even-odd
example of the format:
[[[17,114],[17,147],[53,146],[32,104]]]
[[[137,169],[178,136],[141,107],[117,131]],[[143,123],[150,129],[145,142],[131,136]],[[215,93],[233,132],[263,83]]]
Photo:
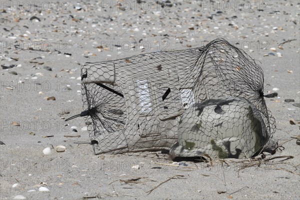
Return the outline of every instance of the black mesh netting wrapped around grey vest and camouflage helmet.
[[[262,69],[221,38],[85,63],[81,81],[81,116],[95,153],[170,149],[172,156],[244,158],[275,131]]]

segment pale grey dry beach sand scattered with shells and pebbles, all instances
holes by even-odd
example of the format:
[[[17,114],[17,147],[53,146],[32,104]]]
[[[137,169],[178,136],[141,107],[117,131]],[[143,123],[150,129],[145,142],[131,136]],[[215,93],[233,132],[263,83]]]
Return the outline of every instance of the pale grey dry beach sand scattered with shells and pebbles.
[[[41,2],[0,2],[1,66],[15,65],[0,68],[0,141],[5,143],[0,145],[0,199],[16,195],[26,199],[300,198],[300,146],[291,138],[299,134],[299,124],[289,123],[289,118],[300,120],[299,107],[292,104],[300,102],[299,1],[171,0],[172,6],[163,8],[147,0],[120,0],[119,5],[111,0]],[[276,158],[245,169],[236,163],[240,160],[232,159],[213,166],[183,161],[196,168],[159,165],[156,162],[172,162],[160,151],[96,156],[87,131],[81,130],[83,118],[64,126],[61,117],[82,111],[77,91],[81,64],[199,47],[216,37],[236,43],[260,62],[265,93],[279,89],[278,97],[266,103],[276,119],[273,137],[285,149],[266,158],[293,158]],[[127,44],[134,47],[129,50]],[[287,98],[295,102],[284,102]],[[69,113],[59,114],[63,112]],[[71,132],[71,126],[77,126],[78,132]],[[81,137],[64,137],[67,134]],[[42,153],[56,145],[66,146],[66,151]],[[139,169],[131,168],[137,164]],[[136,177],[141,178],[132,181]],[[122,181],[128,179],[131,182]],[[37,191],[40,186],[49,192]],[[36,191],[28,191],[32,189]]]

